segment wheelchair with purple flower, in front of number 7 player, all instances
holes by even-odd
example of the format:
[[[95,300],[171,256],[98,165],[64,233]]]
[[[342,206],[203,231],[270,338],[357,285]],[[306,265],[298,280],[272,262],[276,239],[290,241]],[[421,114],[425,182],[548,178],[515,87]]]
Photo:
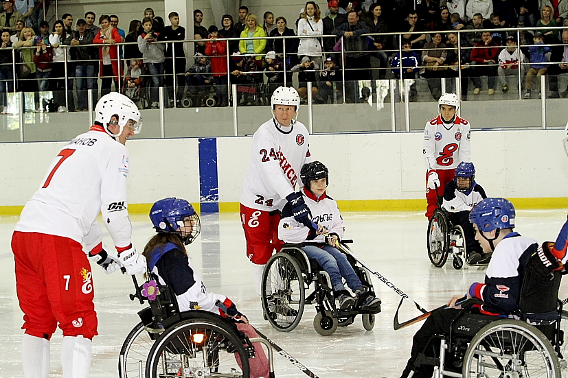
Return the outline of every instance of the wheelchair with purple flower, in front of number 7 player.
[[[155,284],[150,281],[150,285]],[[141,322],[128,333],[119,355],[120,378],[229,377],[248,378],[253,342],[234,322],[208,311],[180,312],[168,286],[156,285],[157,296],[143,296],[144,284],[130,299],[148,300],[150,307],[138,312]],[[271,375],[272,351],[269,346]]]

